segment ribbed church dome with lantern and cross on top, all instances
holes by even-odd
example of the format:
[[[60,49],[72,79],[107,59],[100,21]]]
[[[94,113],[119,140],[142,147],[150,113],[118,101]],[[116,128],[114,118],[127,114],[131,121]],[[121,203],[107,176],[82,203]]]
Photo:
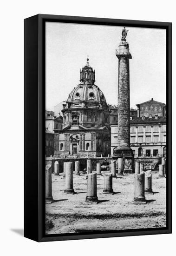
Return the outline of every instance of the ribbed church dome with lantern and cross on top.
[[[80,84],[72,90],[69,94],[67,102],[99,102],[103,105],[107,105],[103,92],[95,82],[95,70],[89,66],[89,59],[87,58],[87,64],[80,70]]]

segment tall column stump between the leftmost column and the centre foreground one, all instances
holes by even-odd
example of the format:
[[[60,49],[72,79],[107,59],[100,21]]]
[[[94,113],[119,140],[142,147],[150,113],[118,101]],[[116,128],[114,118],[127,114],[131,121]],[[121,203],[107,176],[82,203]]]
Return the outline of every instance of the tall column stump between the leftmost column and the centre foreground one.
[[[73,163],[65,162],[65,190],[66,194],[73,194]]]

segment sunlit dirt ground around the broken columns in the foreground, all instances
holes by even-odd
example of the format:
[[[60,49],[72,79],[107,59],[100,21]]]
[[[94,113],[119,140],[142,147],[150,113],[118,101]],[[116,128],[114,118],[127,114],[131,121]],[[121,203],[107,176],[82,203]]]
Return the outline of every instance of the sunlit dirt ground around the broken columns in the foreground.
[[[54,202],[46,203],[46,234],[166,226],[166,179],[158,173],[152,174],[154,193],[145,194],[147,203],[141,205],[132,203],[134,174],[113,178],[113,195],[102,193],[104,176],[97,176],[98,204],[85,203],[86,186],[86,175],[73,175],[76,193],[65,194],[65,179],[52,174]]]

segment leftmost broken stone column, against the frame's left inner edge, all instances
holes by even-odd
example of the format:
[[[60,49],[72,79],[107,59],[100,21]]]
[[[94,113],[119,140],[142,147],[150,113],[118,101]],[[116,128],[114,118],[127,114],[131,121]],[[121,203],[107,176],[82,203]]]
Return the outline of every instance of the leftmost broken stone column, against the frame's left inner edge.
[[[52,166],[47,164],[45,167],[45,201],[52,202]]]

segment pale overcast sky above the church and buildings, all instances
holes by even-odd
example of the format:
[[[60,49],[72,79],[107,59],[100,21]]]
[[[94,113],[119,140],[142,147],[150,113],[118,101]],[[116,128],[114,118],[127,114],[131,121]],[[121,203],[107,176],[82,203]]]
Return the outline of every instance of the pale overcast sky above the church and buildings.
[[[79,84],[80,68],[95,69],[95,84],[107,103],[117,104],[115,49],[123,27],[46,22],[46,109],[53,110]],[[154,98],[166,103],[166,30],[129,29],[130,107]]]

